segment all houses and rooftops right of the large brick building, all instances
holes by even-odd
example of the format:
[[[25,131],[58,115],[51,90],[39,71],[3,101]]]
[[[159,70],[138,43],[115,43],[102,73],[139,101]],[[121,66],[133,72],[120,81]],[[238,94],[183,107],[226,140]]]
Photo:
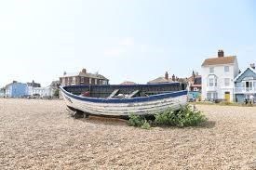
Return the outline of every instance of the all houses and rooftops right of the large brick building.
[[[178,78],[174,74],[169,77],[160,76],[148,84],[165,84],[172,82],[186,83],[192,98],[201,100],[225,100],[228,102],[244,102],[256,100],[256,70],[252,63],[244,71],[239,70],[236,56],[225,56],[219,50],[217,56],[205,59],[201,65],[201,75],[192,72],[188,78]],[[124,82],[123,84],[133,84]],[[134,83],[135,84],[135,83]]]

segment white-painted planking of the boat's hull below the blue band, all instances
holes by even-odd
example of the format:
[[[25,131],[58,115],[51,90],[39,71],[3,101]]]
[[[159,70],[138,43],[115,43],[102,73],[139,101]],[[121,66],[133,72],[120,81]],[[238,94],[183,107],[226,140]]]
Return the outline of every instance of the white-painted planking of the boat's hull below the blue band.
[[[108,102],[90,102],[81,100],[79,98],[72,98],[67,92],[61,89],[64,100],[67,106],[75,110],[85,111],[94,115],[108,115],[108,116],[128,116],[129,114],[155,114],[159,111],[164,111],[168,108],[178,110],[187,102],[186,94],[178,97],[155,99],[143,102],[127,102],[127,103],[108,103]]]

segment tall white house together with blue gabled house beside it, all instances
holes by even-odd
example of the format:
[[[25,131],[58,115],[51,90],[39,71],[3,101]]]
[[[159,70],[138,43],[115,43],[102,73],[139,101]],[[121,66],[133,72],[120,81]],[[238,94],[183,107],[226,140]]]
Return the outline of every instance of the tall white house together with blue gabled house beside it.
[[[202,64],[202,99],[222,99],[228,102],[244,102],[256,98],[255,64],[241,72],[236,56],[218,55],[205,59]]]

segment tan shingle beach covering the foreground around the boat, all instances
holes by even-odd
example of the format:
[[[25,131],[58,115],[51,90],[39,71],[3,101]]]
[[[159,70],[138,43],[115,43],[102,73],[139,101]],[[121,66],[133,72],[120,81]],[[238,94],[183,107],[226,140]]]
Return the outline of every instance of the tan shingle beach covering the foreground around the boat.
[[[204,127],[144,130],[73,119],[61,100],[0,99],[0,169],[255,168],[256,107],[197,107]]]

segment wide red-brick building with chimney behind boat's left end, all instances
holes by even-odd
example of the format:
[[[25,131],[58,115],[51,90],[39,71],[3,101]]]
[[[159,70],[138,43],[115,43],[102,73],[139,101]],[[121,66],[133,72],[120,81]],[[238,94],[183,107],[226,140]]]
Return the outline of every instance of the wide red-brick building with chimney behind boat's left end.
[[[64,72],[60,77],[61,85],[108,85],[109,80],[99,73],[89,73],[86,69],[82,72]]]

